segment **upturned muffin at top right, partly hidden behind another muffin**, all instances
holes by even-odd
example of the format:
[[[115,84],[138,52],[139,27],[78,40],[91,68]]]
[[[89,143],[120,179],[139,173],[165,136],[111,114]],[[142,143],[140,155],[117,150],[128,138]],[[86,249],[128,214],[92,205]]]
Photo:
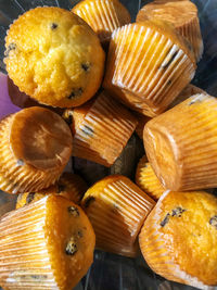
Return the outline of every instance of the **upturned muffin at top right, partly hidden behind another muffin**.
[[[191,1],[154,1],[144,5],[137,15],[137,22],[158,18],[173,24],[192,46],[195,59],[203,54],[203,39],[200,29],[197,8]]]

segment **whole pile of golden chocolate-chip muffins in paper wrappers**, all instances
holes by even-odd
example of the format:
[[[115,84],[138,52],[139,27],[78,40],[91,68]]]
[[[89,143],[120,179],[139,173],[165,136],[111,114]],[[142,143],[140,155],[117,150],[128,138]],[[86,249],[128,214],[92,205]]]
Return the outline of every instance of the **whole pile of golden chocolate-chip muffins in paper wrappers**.
[[[136,23],[118,0],[38,7],[10,26],[10,81],[34,106],[0,121],[3,289],[73,289],[94,249],[136,257],[166,279],[217,285],[217,99],[191,85],[203,54],[196,7],[155,0]],[[135,180],[89,185],[72,156],[111,167],[133,133]],[[145,286],[144,286],[145,287]]]

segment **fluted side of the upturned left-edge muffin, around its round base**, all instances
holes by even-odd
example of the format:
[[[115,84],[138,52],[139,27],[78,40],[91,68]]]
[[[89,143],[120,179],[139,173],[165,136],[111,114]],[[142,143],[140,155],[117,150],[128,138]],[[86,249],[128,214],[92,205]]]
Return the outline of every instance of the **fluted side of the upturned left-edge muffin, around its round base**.
[[[47,113],[47,111],[49,111],[39,108],[31,108],[25,110],[44,110],[44,114]],[[16,114],[21,113],[23,114],[22,111]],[[12,114],[5,117],[0,123],[0,188],[9,193],[37,191],[42,188],[48,188],[50,185],[54,184],[60,177],[62,171],[64,169],[67,163],[67,160],[71,156],[72,147],[68,143],[69,148],[66,149],[66,151],[68,152],[68,154],[66,153],[67,160],[65,160],[65,162],[61,160],[62,164],[59,163],[55,167],[37,168],[28,162],[18,160],[17,156],[15,156],[15,153],[12,148],[12,142],[14,142],[14,140],[10,139],[11,135],[13,134],[13,130],[16,130],[14,135],[16,135],[17,130],[20,130],[20,128],[16,128],[16,124],[14,125],[14,118],[16,114]],[[64,126],[66,125],[64,124]],[[33,134],[34,136],[35,131],[30,134]],[[69,136],[69,131],[68,136],[66,136],[64,131],[62,131],[62,134],[64,138],[68,137],[71,140],[72,137]],[[25,136],[22,137],[25,138]],[[22,142],[22,139],[17,140],[16,142]],[[23,153],[20,152],[20,154],[22,155]],[[39,162],[41,163],[41,161]],[[43,166],[46,166],[46,162],[43,163]]]

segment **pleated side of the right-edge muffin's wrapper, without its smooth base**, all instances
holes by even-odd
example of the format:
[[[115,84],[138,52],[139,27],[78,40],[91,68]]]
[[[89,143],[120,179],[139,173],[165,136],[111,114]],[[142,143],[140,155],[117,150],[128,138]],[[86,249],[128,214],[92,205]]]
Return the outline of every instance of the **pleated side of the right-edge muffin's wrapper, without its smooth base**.
[[[174,151],[176,160],[171,166],[175,166],[177,172],[180,171],[179,180],[176,177],[175,187],[168,184],[166,187],[175,191],[215,188],[217,186],[217,100],[208,94],[195,94],[174,108],[173,114],[169,114],[170,112],[164,115],[166,128],[161,116],[157,121],[161,125],[154,124],[154,128],[159,133],[165,134],[164,131],[169,130],[169,136],[177,146]],[[177,129],[174,124],[180,118],[182,123]],[[175,176],[169,178],[175,179]],[[169,178],[167,179],[170,180]]]

